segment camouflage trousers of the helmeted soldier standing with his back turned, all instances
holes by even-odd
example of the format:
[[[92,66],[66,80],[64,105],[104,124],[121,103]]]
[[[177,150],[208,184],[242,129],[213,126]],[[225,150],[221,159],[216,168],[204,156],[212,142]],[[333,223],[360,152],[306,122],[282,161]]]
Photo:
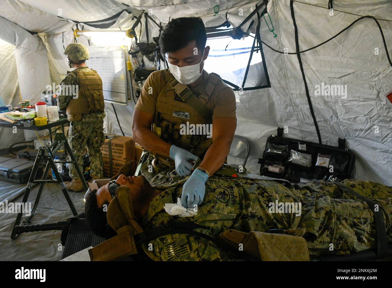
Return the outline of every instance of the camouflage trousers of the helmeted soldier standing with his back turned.
[[[68,143],[71,146],[72,152],[76,161],[78,162],[79,168],[83,171],[83,155],[84,149],[87,145],[90,157],[90,175],[93,178],[103,177],[103,162],[101,146],[105,141],[105,135],[103,135],[103,122],[83,122],[83,121],[71,121],[68,130]],[[71,161],[69,155],[67,155],[67,161]],[[68,164],[69,175],[74,178],[79,178],[78,172],[72,163]]]

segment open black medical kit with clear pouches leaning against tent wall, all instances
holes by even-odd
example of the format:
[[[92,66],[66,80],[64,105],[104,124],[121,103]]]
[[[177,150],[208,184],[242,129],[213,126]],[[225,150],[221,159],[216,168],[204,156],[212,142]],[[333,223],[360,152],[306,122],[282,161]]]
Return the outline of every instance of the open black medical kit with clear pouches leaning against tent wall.
[[[338,147],[278,136],[267,139],[263,158],[259,158],[260,175],[286,179],[292,183],[351,178],[355,156],[346,148],[345,139]]]

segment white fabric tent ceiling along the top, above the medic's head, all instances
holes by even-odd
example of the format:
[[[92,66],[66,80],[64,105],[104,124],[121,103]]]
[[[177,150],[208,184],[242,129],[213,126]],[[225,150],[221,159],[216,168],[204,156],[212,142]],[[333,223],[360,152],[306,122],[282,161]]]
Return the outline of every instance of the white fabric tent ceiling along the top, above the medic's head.
[[[296,1],[296,0],[294,0]],[[327,8],[325,0],[296,1]],[[347,11],[358,15],[368,15],[392,20],[392,5],[389,0],[339,0],[333,2],[336,11]],[[35,33],[60,33],[73,25],[70,20],[78,22],[97,21],[113,16],[123,9],[149,11],[150,14],[165,25],[169,18],[184,16],[201,16],[207,27],[219,25],[226,20],[226,12],[239,13],[242,8],[244,16],[249,8],[262,3],[261,0],[2,0],[0,16]],[[129,6],[127,6],[129,5]],[[219,13],[214,16],[214,6],[219,6]],[[140,12],[139,11],[139,12]],[[59,17],[60,16],[60,17]],[[130,27],[133,15],[122,13],[113,27]],[[61,18],[62,17],[62,18]]]

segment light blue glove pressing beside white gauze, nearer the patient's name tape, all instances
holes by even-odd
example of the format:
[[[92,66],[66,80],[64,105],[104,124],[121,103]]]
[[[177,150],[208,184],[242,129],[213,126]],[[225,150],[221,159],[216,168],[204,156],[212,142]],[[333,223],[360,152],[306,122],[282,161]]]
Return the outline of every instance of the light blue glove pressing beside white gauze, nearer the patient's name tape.
[[[205,182],[208,175],[198,169],[194,170],[191,177],[182,187],[181,203],[185,208],[194,207],[194,204],[200,205],[204,199]]]

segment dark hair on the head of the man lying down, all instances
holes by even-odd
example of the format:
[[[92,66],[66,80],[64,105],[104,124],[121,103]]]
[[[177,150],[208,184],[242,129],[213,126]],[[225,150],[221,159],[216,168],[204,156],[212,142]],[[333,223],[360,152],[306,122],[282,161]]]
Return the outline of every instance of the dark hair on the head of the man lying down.
[[[86,196],[85,216],[91,230],[95,234],[101,237],[111,238],[116,235],[116,232],[107,223],[106,212],[102,208],[105,204],[109,206],[109,202],[105,201],[105,203],[98,207],[96,193],[97,190],[94,189]]]

